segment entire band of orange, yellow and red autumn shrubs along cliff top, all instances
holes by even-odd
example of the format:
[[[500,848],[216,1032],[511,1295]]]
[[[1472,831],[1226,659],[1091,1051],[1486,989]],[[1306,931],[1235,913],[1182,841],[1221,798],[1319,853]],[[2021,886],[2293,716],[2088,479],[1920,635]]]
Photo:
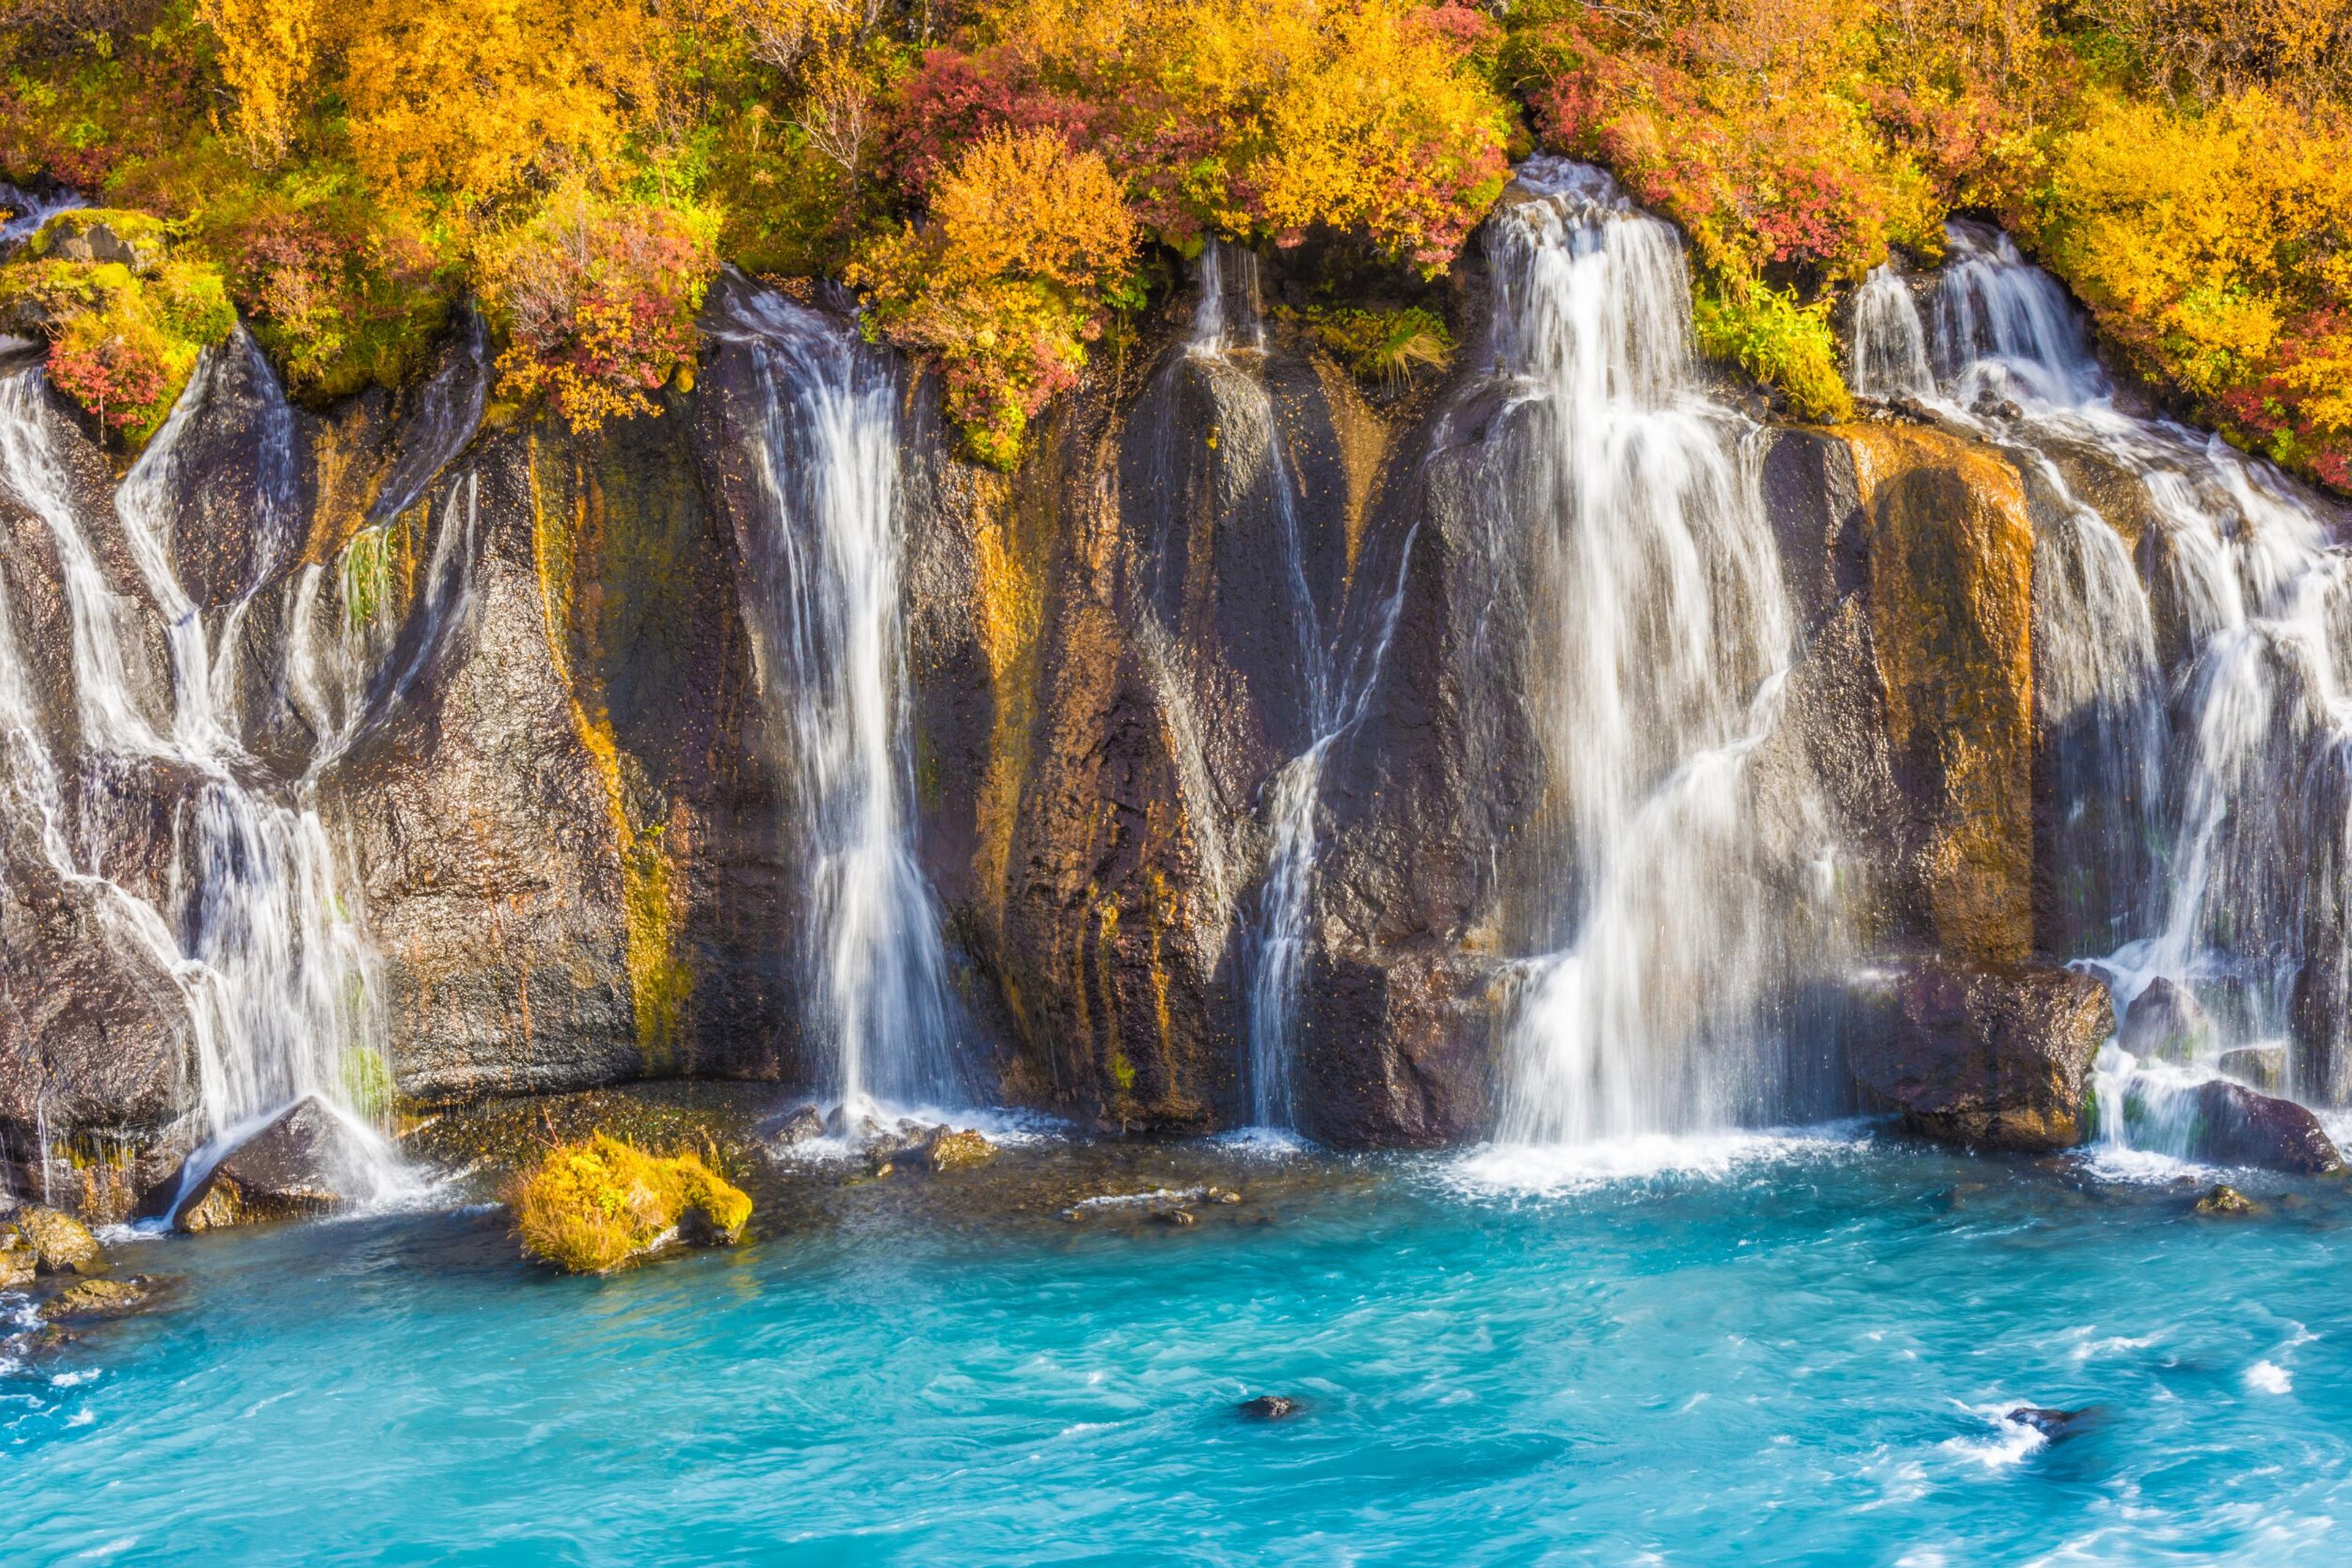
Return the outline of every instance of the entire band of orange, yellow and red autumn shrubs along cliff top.
[[[1534,139],[1682,223],[1700,346],[1799,416],[1849,409],[1839,294],[1976,212],[2232,440],[2352,487],[2352,12],[2326,0],[24,0],[0,21],[0,176],[167,226],[169,275],[7,284],[45,292],[59,386],[129,440],[207,341],[209,280],[308,397],[405,381],[473,292],[501,395],[593,425],[691,374],[729,259],[854,282],[868,331],[943,371],[974,454],[1011,463],[1204,237],[1324,235],[1357,275],[1435,275]],[[1374,331],[1357,303],[1315,320],[1350,362],[1442,355],[1428,310],[1388,343],[1404,315]]]

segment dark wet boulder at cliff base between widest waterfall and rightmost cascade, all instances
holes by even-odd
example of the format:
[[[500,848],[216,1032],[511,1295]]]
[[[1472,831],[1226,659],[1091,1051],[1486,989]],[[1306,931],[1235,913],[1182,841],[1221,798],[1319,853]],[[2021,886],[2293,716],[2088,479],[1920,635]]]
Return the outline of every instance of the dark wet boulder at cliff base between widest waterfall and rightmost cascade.
[[[1856,1084],[1943,1143],[2049,1152],[2082,1143],[2107,990],[2027,964],[1922,964],[1893,980],[1886,1027],[1851,1041]]]

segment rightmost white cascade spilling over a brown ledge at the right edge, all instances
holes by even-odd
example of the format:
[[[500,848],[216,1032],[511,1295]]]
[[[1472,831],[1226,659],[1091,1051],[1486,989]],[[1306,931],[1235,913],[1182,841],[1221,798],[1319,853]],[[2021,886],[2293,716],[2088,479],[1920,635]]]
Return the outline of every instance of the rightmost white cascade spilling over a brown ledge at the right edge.
[[[1860,364],[1891,353],[1889,331],[1919,331],[1893,308],[1907,289],[1882,303],[1856,317]],[[2180,1117],[2150,1107],[2237,1067],[2230,1051],[2286,1041],[2288,1084],[2340,1103],[2352,583],[2328,515],[2220,437],[2133,411],[2006,235],[1952,226],[1926,317],[1936,416],[1999,444],[2037,491],[2063,938],[2112,978],[2119,1018],[2159,978],[2197,999],[2169,1046],[2183,1060],[2103,1060],[2103,1135],[2178,1152]],[[2126,1103],[2147,1112],[2138,1133]]]

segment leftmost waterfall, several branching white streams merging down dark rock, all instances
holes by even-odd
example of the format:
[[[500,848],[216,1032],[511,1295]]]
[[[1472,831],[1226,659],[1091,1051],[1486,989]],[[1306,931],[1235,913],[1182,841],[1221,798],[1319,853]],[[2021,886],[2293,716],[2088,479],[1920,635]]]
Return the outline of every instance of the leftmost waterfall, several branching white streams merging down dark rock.
[[[221,353],[252,355],[261,390],[252,583],[268,581],[299,543],[292,411],[259,350],[240,334]],[[89,522],[54,447],[40,371],[0,381],[0,487],[56,548],[73,623],[73,738],[42,733],[14,628],[0,616],[0,726],[9,741],[12,813],[40,816],[38,842],[66,879],[99,893],[106,929],[174,978],[188,1009],[198,1065],[191,1180],[303,1095],[348,1124],[353,1199],[388,1194],[400,1175],[369,1126],[388,1088],[372,1009],[372,952],[350,879],[318,816],[313,773],[278,785],[238,741],[235,661],[247,588],[207,628],[179,583],[172,494],[193,409],[221,369],[209,353],[115,494],[115,515],[139,585],[162,618],[169,705],[134,677],[132,628],[141,604],[108,585]],[[146,797],[179,790],[169,886],[160,900],[115,882],[108,867],[139,856],[153,832]],[[80,809],[71,809],[78,799]],[[42,1150],[47,1161],[47,1150]]]

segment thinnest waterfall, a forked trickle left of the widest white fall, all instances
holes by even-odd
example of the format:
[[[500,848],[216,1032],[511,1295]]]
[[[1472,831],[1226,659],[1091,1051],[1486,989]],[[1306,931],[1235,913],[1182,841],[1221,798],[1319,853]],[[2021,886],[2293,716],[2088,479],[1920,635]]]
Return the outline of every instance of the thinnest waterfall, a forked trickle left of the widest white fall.
[[[1324,759],[1371,701],[1395,632],[1404,571],[1399,567],[1397,578],[1381,585],[1385,597],[1364,618],[1355,637],[1359,646],[1343,646],[1345,625],[1327,635],[1324,607],[1308,567],[1303,487],[1261,376],[1265,315],[1256,254],[1228,249],[1218,240],[1202,249],[1200,303],[1185,353],[1216,376],[1223,449],[1263,465],[1282,559],[1282,611],[1296,637],[1298,717],[1308,743],[1265,785],[1265,879],[1251,912],[1254,940],[1242,994],[1249,1119],[1258,1128],[1287,1131],[1296,1126],[1298,1004],[1315,924]],[[1404,548],[1404,559],[1409,557],[1411,541]]]

